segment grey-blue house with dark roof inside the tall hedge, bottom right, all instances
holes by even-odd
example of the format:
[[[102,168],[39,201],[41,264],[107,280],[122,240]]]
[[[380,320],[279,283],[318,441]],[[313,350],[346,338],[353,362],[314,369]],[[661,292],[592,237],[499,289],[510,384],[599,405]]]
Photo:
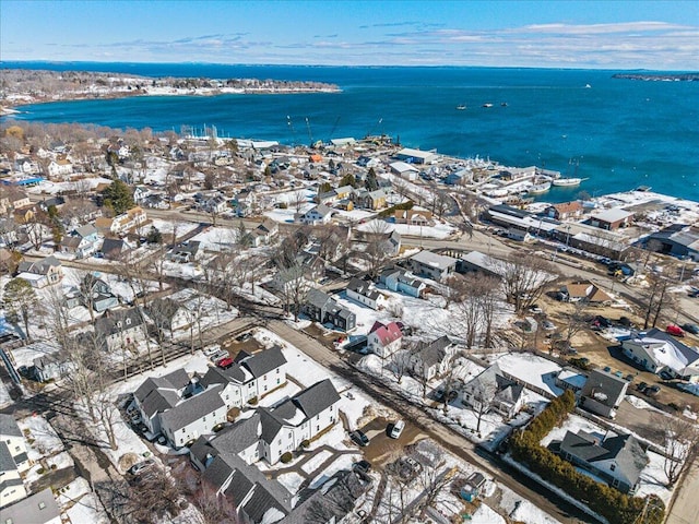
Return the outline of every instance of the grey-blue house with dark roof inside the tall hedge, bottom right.
[[[633,493],[648,455],[630,434],[607,432],[601,437],[579,430],[567,431],[559,454],[566,461],[602,477],[623,493]]]

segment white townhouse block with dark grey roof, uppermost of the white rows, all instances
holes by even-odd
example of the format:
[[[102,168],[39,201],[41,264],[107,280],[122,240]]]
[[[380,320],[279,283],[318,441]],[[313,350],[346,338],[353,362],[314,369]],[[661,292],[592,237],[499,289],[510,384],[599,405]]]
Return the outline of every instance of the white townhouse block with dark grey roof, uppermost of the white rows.
[[[226,369],[210,367],[199,383],[203,388],[223,385],[226,407],[242,407],[286,383],[286,359],[279,346],[254,355],[240,352]]]

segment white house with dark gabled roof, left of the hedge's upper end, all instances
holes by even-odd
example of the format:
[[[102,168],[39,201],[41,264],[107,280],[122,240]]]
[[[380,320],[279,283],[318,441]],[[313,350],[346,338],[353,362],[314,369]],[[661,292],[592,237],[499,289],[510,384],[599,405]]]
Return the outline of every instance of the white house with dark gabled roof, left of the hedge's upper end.
[[[505,377],[497,364],[463,386],[461,402],[476,410],[512,418],[524,405],[524,386]]]

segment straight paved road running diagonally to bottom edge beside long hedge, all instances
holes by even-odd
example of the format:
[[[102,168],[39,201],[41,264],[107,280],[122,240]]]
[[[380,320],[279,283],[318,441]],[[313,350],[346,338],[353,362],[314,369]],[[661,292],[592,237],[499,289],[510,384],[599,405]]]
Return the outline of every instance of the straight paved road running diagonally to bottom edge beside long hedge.
[[[268,329],[303,350],[317,362],[352,381],[357,388],[363,390],[377,402],[388,405],[401,414],[401,416],[411,420],[419,427],[426,436],[435,439],[451,453],[454,453],[457,456],[487,472],[497,481],[507,486],[524,499],[532,501],[537,508],[546,511],[561,523],[577,524],[580,522],[595,522],[589,516],[580,513],[577,509],[570,507],[570,504],[558,500],[555,495],[544,492],[544,490],[537,491],[536,489],[538,488],[536,486],[533,486],[534,489],[530,488],[529,486],[532,484],[531,481],[529,481],[528,485],[522,484],[519,479],[519,475],[514,472],[508,472],[502,468],[503,466],[501,464],[493,463],[491,457],[478,454],[474,444],[470,440],[441,422],[436,421],[423,412],[419,406],[410,404],[398,393],[387,389],[378,380],[367,374],[359,373],[347,362],[342,360],[336,353],[328,349],[325,346],[321,345],[305,333],[298,332],[279,320],[270,321]]]

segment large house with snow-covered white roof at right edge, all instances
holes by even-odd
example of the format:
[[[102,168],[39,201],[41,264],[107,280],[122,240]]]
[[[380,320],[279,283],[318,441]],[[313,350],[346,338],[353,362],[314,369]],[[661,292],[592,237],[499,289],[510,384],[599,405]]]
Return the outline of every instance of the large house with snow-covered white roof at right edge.
[[[653,327],[647,333],[632,333],[621,343],[624,355],[648,371],[666,371],[689,382],[699,383],[699,352],[674,336]]]

